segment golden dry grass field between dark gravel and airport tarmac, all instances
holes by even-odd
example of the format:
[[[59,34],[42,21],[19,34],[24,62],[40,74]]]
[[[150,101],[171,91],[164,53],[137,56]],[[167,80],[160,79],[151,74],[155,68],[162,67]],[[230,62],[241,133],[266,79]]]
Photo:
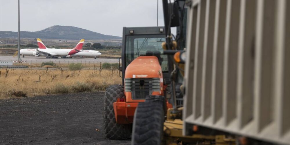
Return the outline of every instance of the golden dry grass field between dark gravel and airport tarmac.
[[[117,70],[0,69],[0,99],[104,91],[122,79]]]

